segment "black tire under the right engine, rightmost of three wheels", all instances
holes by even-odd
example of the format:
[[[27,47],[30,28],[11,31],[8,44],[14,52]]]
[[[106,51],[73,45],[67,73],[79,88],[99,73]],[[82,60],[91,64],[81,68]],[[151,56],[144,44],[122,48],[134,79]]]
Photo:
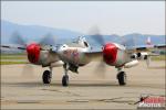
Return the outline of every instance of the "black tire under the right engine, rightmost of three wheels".
[[[117,79],[118,79],[120,86],[126,85],[126,74],[125,74],[125,72],[120,72],[117,74]]]

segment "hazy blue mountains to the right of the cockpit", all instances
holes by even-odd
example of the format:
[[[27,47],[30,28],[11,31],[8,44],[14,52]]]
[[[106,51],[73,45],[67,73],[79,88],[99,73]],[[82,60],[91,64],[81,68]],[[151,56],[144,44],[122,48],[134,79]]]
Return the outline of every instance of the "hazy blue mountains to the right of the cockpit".
[[[151,42],[153,45],[157,44],[166,44],[166,35],[149,35],[149,34],[127,34],[124,36],[120,35],[102,35],[104,37],[105,43],[112,42],[112,43],[118,43],[126,46],[143,46],[146,45],[147,38],[151,37]],[[95,36],[94,36],[95,37]],[[98,44],[92,38],[92,36],[86,36],[86,38],[90,41],[90,44],[94,47],[97,47]]]

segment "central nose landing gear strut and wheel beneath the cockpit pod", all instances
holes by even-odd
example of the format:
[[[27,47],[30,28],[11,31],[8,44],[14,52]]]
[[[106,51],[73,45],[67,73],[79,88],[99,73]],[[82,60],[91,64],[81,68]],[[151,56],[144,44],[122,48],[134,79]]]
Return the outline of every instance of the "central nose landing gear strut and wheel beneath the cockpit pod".
[[[68,76],[69,65],[64,64],[63,68],[64,68],[64,74],[65,75],[63,75],[63,77],[62,77],[62,86],[68,87],[69,86],[69,76]]]

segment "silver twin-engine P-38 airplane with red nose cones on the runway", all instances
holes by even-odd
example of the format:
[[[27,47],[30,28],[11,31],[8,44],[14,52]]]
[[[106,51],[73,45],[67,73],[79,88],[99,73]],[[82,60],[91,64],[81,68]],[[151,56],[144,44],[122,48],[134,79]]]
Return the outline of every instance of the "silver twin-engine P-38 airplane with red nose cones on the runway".
[[[80,36],[74,43],[62,45],[42,45],[42,43],[23,44],[21,37],[15,37],[17,42],[23,46],[17,47],[24,50],[31,64],[49,67],[42,75],[43,84],[50,84],[52,78],[52,68],[62,66],[64,75],[62,86],[69,86],[69,70],[79,73],[79,67],[85,66],[92,61],[102,61],[108,66],[117,68],[117,80],[121,86],[126,85],[126,73],[123,68],[131,68],[138,64],[139,59],[148,61],[147,52],[136,52],[139,47],[127,48],[127,46],[117,43],[104,43],[101,35],[92,35],[101,45],[100,51],[93,51],[84,36]],[[45,37],[46,38],[46,37]],[[12,48],[1,45],[1,47]],[[141,47],[142,48],[142,47]],[[101,73],[102,74],[102,73]]]

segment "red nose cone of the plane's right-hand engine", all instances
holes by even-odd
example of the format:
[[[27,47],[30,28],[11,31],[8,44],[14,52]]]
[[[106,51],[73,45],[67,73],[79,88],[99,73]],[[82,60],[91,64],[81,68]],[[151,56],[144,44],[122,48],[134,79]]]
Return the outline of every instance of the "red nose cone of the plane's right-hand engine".
[[[106,44],[103,48],[103,59],[106,64],[112,65],[116,61],[117,47],[115,44]]]

